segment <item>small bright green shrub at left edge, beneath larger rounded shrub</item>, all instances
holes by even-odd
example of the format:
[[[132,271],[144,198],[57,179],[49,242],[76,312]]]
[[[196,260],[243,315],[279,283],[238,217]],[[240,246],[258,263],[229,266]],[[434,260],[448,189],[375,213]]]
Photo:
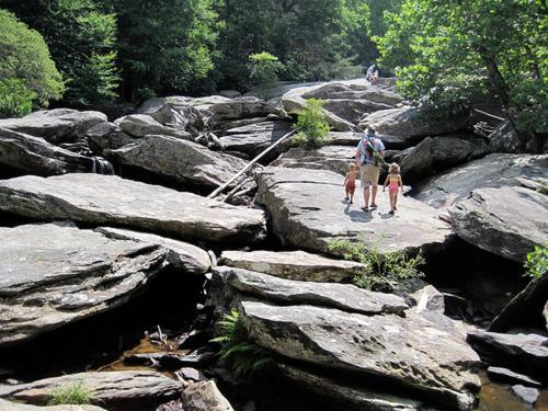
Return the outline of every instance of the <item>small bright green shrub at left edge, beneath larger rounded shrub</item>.
[[[0,118],[30,114],[36,93],[18,79],[0,80]]]

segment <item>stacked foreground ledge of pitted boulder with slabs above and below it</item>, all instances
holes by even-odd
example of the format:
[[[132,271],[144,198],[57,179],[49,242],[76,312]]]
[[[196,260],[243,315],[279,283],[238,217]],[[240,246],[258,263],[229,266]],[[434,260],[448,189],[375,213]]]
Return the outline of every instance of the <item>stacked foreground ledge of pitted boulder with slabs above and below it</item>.
[[[283,376],[329,401],[372,410],[476,404],[478,355],[447,317],[418,313],[401,297],[222,266],[208,295],[217,313],[239,309]]]

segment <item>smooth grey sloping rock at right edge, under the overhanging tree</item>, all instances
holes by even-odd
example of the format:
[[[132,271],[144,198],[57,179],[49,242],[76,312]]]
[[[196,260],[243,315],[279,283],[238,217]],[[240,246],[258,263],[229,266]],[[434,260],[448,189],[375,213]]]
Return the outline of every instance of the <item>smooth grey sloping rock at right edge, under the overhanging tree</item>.
[[[450,207],[476,189],[520,185],[520,179],[548,180],[548,155],[489,155],[413,187],[413,197],[435,208]]]

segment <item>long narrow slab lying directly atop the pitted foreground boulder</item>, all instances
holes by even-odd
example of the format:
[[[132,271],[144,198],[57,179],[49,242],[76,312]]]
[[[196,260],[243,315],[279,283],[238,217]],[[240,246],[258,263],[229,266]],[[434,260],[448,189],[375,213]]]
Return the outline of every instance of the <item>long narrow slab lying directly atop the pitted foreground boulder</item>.
[[[409,308],[401,297],[369,292],[351,284],[289,281],[222,266],[216,267],[214,275],[220,276],[227,286],[243,295],[276,304],[315,305],[365,315],[402,312]]]

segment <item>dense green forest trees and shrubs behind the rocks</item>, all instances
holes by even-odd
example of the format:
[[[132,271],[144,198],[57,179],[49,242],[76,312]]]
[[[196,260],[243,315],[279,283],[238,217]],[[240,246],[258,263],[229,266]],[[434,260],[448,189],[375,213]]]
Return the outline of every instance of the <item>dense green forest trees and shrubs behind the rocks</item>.
[[[0,111],[355,78],[378,61],[410,100],[492,99],[546,134],[541,0],[2,0]]]

